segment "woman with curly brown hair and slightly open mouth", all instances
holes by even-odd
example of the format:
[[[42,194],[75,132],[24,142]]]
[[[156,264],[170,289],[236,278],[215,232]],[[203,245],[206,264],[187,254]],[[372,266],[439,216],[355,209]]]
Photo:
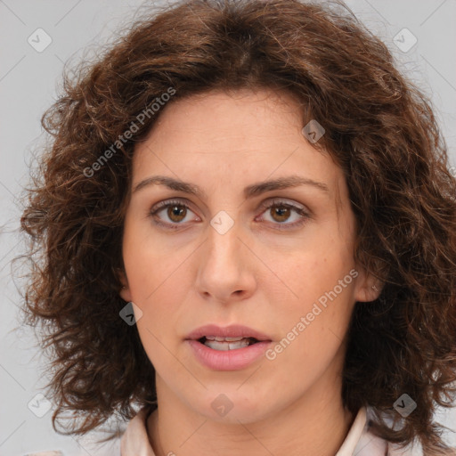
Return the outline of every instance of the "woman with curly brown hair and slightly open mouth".
[[[454,454],[456,183],[354,17],[174,4],[43,124],[22,227],[54,426],[119,413],[122,456]]]

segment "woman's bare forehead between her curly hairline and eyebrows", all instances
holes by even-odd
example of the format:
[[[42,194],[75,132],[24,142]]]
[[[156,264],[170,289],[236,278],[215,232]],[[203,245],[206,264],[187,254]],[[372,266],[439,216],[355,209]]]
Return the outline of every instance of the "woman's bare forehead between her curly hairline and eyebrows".
[[[302,107],[286,92],[210,91],[176,99],[136,145],[134,182],[169,175],[197,182],[210,194],[284,175],[303,175],[340,200],[345,182],[329,153],[302,134]]]

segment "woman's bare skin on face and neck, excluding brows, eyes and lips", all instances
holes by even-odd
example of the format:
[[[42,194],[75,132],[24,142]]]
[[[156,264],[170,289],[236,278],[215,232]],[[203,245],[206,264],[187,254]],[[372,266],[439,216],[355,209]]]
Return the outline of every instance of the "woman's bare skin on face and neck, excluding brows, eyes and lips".
[[[136,147],[132,189],[167,175],[207,194],[199,199],[151,184],[132,191],[126,210],[121,297],[142,311],[137,329],[156,370],[159,409],[148,432],[158,456],[259,456],[265,448],[333,455],[353,422],[341,399],[346,331],[354,303],[375,299],[381,286],[354,263],[345,177],[328,153],[306,141],[303,126],[289,94],[214,91],[169,103]],[[244,198],[244,187],[288,175],[328,191],[301,185]],[[182,222],[167,208],[150,215],[167,199],[190,207]],[[308,216],[292,210],[287,219],[260,206],[273,199]],[[210,224],[222,210],[234,222],[224,234]],[[274,360],[212,371],[184,340],[205,324],[243,324],[275,345],[353,269],[357,277]],[[224,417],[211,407],[220,394],[233,405]]]

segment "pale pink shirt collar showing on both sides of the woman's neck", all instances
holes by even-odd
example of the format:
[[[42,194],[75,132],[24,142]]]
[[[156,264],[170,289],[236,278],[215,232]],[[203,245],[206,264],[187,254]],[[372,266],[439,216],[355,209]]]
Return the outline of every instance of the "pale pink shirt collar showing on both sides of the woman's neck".
[[[155,456],[147,436],[147,417],[147,410],[142,409],[134,419],[130,420],[120,441],[121,456]],[[173,452],[168,454],[172,455]],[[369,432],[367,410],[362,407],[335,456],[414,456],[415,454],[412,454],[410,449],[400,451],[397,446],[373,436]]]

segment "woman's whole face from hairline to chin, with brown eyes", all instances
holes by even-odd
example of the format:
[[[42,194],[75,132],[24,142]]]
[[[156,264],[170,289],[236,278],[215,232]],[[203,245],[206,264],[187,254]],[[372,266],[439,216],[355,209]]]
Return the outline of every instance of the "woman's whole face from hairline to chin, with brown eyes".
[[[377,295],[343,172],[303,126],[289,94],[214,91],[136,147],[121,296],[159,401],[251,422],[338,391],[354,303]]]

